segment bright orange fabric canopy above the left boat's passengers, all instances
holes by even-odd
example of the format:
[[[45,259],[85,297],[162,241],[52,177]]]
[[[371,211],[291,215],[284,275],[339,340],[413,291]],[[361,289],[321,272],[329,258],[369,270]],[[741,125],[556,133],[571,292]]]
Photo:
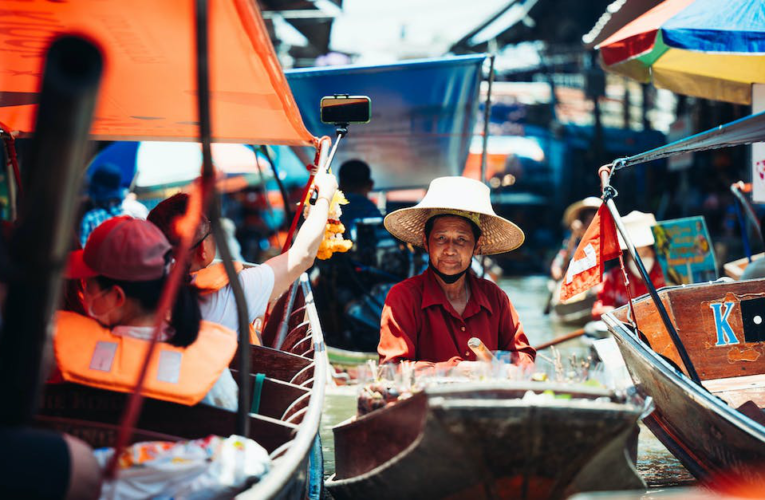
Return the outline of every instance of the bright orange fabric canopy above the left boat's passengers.
[[[105,59],[93,139],[198,140],[192,0],[12,3],[0,14],[0,122],[11,132],[34,131],[50,42],[79,33]],[[315,146],[255,0],[209,9],[213,141]]]

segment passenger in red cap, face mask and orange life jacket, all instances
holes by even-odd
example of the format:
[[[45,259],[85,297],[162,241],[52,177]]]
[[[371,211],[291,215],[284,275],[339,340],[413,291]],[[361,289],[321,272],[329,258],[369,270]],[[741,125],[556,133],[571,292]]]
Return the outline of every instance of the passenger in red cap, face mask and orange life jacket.
[[[83,280],[89,317],[59,312],[53,339],[65,381],[118,392],[133,390],[154,334],[155,312],[172,246],[151,222],[115,217],[91,233],[70,256],[68,277]],[[143,394],[235,410],[237,386],[228,365],[236,335],[202,320],[198,296],[181,286],[150,360]]]

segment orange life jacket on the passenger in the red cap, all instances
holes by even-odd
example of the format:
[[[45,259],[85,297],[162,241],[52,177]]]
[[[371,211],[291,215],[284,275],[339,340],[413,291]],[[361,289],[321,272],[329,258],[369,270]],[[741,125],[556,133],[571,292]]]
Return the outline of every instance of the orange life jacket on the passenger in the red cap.
[[[53,337],[64,380],[116,392],[132,392],[149,341],[112,334],[94,319],[60,311]],[[188,347],[165,342],[154,350],[141,393],[185,405],[199,403],[225,370],[237,348],[236,334],[202,321]]]

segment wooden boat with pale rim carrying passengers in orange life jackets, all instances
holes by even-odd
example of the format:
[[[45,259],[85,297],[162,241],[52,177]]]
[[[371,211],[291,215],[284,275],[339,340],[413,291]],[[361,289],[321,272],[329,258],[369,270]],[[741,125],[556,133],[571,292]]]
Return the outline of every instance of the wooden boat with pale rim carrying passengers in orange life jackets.
[[[299,289],[295,297],[285,297],[281,309],[277,307],[271,316],[274,321],[269,322],[289,321],[285,349],[250,346],[251,377],[257,379],[257,374],[262,374],[265,378],[260,384],[252,381],[256,391],[260,386],[260,396],[257,410],[250,413],[248,437],[263,446],[272,459],[269,473],[246,492],[253,498],[306,496],[309,459],[319,431],[327,377],[324,340],[307,277],[294,286]],[[289,298],[294,299],[292,303]],[[295,307],[304,301],[305,305]],[[231,365],[235,377],[237,366],[235,357]],[[93,448],[113,446],[128,397],[78,384],[50,384],[36,423],[79,437]],[[132,442],[228,436],[234,432],[235,423],[235,412],[147,398]],[[313,466],[320,467],[320,463]]]

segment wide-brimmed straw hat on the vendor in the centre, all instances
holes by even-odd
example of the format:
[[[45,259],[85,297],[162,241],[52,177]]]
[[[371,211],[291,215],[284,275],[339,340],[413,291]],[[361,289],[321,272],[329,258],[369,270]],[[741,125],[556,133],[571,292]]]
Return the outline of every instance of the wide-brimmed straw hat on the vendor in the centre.
[[[489,187],[467,177],[433,179],[420,203],[385,217],[385,229],[401,241],[422,246],[425,223],[441,214],[459,215],[481,228],[480,252],[492,255],[515,250],[523,244],[523,231],[491,208]]]

